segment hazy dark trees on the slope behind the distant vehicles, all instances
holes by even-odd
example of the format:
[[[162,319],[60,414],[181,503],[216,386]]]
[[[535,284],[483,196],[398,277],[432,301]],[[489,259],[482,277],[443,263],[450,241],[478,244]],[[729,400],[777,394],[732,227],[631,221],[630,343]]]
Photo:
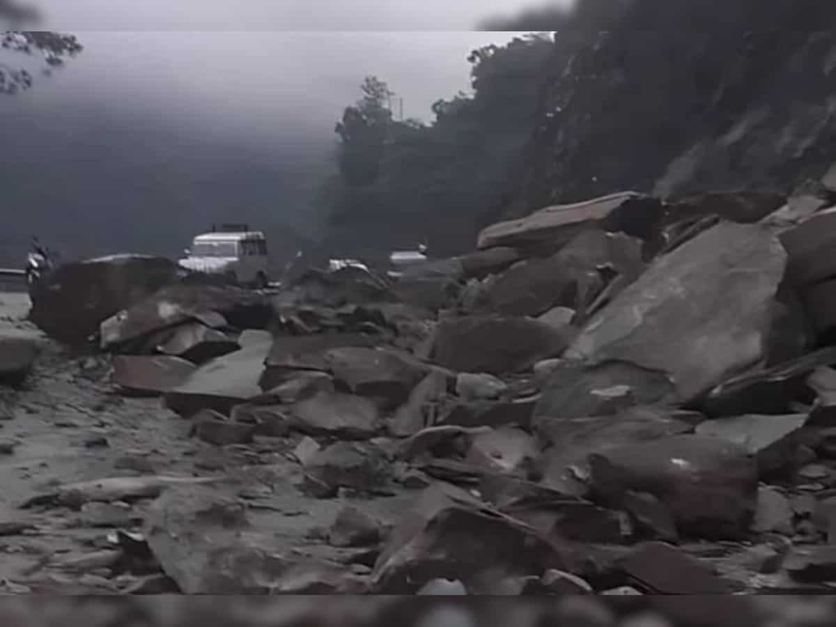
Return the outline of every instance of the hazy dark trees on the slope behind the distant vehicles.
[[[376,77],[336,126],[339,171],[323,187],[333,247],[374,254],[427,241],[449,254],[472,246],[521,167],[550,38],[528,35],[472,51],[471,93],[432,105],[435,120],[393,120],[394,93]]]

